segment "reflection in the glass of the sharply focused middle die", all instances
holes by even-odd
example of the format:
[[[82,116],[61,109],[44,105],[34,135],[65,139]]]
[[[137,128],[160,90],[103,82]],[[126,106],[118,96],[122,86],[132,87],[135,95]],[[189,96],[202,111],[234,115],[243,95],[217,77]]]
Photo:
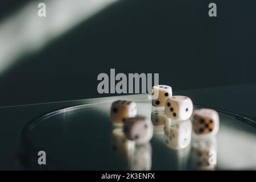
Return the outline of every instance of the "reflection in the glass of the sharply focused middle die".
[[[180,150],[189,146],[191,142],[192,125],[189,119],[185,121],[172,122],[170,126],[164,127],[166,146]]]

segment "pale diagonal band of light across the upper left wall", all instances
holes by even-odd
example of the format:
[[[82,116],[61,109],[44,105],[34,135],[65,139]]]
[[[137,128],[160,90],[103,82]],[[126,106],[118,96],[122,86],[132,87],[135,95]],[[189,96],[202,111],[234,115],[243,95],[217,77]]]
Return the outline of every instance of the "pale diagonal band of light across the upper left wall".
[[[39,51],[80,22],[118,0],[51,0],[46,17],[33,1],[0,22],[0,74],[21,56]]]

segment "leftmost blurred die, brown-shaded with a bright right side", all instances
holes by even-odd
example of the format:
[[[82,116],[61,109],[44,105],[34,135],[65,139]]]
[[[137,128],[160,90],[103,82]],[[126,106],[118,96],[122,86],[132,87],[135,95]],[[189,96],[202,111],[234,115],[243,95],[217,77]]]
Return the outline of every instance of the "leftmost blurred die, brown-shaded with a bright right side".
[[[137,105],[133,101],[118,100],[111,106],[110,118],[114,125],[122,126],[126,118],[133,118],[136,115]]]

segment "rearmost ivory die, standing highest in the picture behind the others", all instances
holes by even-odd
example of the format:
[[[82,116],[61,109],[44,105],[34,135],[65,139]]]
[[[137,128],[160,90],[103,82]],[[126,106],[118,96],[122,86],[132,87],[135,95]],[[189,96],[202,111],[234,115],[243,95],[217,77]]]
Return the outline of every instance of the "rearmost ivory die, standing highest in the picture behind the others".
[[[158,98],[152,100],[152,106],[164,107],[166,100],[172,97],[172,88],[168,85],[155,85],[152,88],[152,94],[154,94],[154,97],[158,96]]]

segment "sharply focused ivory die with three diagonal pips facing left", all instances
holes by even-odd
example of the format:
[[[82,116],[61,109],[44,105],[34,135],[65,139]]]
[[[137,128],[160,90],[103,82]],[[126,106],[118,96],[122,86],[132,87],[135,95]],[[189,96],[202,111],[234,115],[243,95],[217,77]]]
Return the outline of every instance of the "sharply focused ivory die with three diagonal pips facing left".
[[[167,99],[165,111],[174,121],[187,120],[193,113],[193,102],[187,96],[173,96]]]

